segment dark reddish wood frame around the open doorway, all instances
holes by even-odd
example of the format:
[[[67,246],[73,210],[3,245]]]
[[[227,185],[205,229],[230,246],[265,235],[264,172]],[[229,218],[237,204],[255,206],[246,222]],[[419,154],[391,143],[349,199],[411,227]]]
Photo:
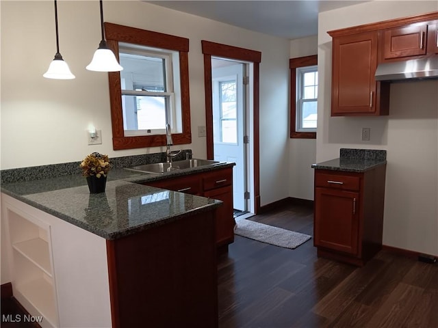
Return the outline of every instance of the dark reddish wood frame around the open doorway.
[[[222,57],[253,63],[253,156],[254,156],[254,209],[260,210],[260,155],[259,155],[259,64],[261,52],[201,40],[204,55],[205,83],[205,131],[207,136],[207,159],[213,159],[213,90],[211,87],[211,57]]]

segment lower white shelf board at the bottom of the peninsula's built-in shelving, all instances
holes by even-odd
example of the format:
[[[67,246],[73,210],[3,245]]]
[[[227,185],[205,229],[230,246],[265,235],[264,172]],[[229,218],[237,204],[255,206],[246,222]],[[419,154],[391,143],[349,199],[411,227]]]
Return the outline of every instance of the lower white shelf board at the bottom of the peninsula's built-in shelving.
[[[16,291],[38,311],[48,323],[56,327],[56,305],[53,286],[44,277],[16,286]],[[14,290],[14,294],[16,293]],[[20,299],[18,299],[20,301]]]

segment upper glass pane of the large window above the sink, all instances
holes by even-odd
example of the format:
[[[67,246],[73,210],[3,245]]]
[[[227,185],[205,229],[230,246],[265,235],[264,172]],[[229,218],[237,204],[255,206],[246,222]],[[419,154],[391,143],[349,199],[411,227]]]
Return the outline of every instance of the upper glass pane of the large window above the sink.
[[[164,58],[120,52],[123,90],[166,92]]]

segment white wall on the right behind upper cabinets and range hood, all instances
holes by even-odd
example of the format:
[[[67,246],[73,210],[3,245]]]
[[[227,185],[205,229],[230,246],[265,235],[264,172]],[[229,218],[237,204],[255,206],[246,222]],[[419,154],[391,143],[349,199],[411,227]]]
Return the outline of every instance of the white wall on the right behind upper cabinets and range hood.
[[[331,118],[331,37],[326,31],[438,10],[437,1],[371,1],[318,20],[318,162],[339,148],[387,150],[383,243],[438,255],[438,81],[393,83],[389,116]],[[371,140],[360,141],[361,127]]]

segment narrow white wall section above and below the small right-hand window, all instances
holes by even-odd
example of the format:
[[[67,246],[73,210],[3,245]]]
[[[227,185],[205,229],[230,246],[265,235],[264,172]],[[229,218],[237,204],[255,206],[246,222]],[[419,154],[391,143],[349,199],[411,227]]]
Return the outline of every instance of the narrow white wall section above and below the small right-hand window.
[[[292,40],[291,58],[316,55],[318,36]],[[289,101],[294,101],[294,95]],[[316,162],[315,139],[289,139],[289,197],[313,200],[313,169]]]

